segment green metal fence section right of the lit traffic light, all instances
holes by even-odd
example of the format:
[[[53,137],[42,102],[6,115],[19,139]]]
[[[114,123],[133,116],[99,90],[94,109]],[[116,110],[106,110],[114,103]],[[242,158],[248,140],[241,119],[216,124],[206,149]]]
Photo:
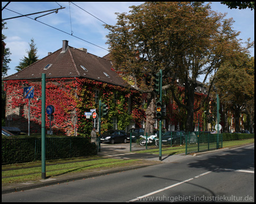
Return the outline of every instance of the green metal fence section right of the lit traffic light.
[[[222,148],[222,134],[186,133],[185,154]]]

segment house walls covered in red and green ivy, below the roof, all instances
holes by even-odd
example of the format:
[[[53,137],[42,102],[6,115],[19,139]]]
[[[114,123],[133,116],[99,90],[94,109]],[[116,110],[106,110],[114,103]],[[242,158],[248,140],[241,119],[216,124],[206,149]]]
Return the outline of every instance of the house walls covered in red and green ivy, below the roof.
[[[13,116],[10,126],[27,132],[28,99],[23,99],[23,87],[34,86],[34,99],[30,99],[30,132],[41,131],[41,82],[30,80],[7,80],[6,117]],[[99,94],[96,100],[96,90]],[[58,78],[47,79],[46,106],[54,105],[55,113],[51,126],[54,133],[67,135],[89,135],[92,130],[92,118],[86,119],[84,112],[97,109],[98,100],[109,107],[108,116],[102,118],[101,131],[113,129],[113,118],[117,119],[117,128],[125,129],[130,122],[137,126],[144,120],[142,98],[138,91],[125,87],[114,86],[90,79]],[[6,121],[7,124],[7,121]],[[46,129],[49,120],[46,117]]]

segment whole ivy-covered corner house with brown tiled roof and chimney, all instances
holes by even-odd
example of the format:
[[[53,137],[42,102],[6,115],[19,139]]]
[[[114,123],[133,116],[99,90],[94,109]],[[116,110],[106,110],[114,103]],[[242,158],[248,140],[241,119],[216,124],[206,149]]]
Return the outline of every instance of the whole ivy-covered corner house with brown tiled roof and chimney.
[[[63,46],[25,69],[4,78],[6,91],[6,118],[12,116],[10,126],[28,130],[28,99],[23,99],[23,88],[34,86],[34,99],[30,100],[30,130],[40,132],[42,73],[46,74],[46,106],[54,105],[52,121],[54,131],[67,135],[88,134],[93,125],[84,112],[97,109],[101,99],[109,106],[103,129],[125,129],[140,124],[142,116],[135,116],[133,108],[141,107],[139,93],[117,73],[108,57],[97,57],[84,48],[73,48],[63,40]],[[125,117],[124,117],[125,116]],[[8,122],[6,121],[6,125]],[[46,117],[46,128],[49,128]]]

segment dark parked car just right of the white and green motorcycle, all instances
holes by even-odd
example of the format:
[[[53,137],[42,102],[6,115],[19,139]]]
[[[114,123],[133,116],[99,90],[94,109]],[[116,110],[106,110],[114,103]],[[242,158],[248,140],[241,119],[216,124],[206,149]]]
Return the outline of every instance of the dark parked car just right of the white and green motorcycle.
[[[180,138],[181,144],[185,143],[185,135],[183,131],[167,131],[162,136],[162,143],[164,145],[170,145],[172,141],[172,145],[180,145]]]

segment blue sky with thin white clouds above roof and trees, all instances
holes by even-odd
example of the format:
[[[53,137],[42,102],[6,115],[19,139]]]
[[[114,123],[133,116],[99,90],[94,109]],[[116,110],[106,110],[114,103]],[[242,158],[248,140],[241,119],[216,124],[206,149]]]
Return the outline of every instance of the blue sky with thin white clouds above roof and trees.
[[[138,6],[143,2],[11,2],[2,10],[2,19],[15,16],[32,14],[40,11],[48,11],[55,8],[65,7],[57,13],[44,12],[5,20],[6,27],[2,31],[6,47],[10,48],[10,70],[7,75],[16,73],[15,66],[19,65],[20,59],[27,56],[26,50],[30,49],[28,43],[34,39],[39,59],[46,57],[48,52],[55,52],[62,47],[62,41],[68,40],[68,44],[74,48],[86,48],[88,53],[99,57],[108,54],[106,35],[108,29],[103,24],[115,25],[117,15],[115,12],[129,13],[129,6]],[[208,3],[208,2],[206,2]],[[7,2],[2,2],[2,7]],[[80,8],[79,8],[79,7]],[[249,8],[239,10],[230,9],[220,2],[212,2],[212,10],[227,13],[226,18],[233,18],[233,28],[240,31],[239,38],[243,42],[248,38],[254,41],[254,10]],[[82,8],[82,9],[81,9]],[[10,11],[11,10],[11,11]],[[19,14],[15,13],[18,12]],[[42,16],[37,20],[36,17]],[[32,18],[32,19],[31,19]],[[42,23],[40,23],[42,22]],[[43,24],[44,23],[44,24]],[[47,24],[47,25],[46,25]],[[50,25],[50,26],[48,26]],[[59,30],[57,30],[57,29]],[[61,30],[61,31],[60,31]],[[251,49],[254,56],[254,49]],[[203,81],[203,80],[202,80]]]

